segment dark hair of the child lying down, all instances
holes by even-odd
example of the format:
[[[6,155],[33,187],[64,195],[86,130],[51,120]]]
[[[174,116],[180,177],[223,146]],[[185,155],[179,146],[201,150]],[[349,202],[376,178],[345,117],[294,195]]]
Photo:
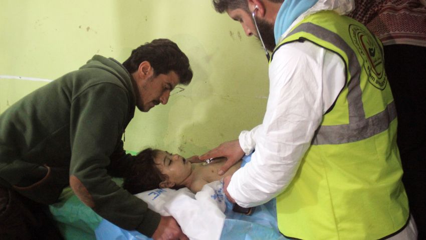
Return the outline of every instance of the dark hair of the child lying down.
[[[167,175],[163,175],[154,160],[159,150],[147,148],[134,157],[130,170],[124,176],[123,188],[136,194],[158,188]]]

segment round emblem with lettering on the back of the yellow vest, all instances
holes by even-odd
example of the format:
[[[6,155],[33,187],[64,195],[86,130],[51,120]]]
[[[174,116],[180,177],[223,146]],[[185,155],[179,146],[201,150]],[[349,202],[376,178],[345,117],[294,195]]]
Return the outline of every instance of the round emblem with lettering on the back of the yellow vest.
[[[349,35],[364,60],[368,81],[376,88],[383,90],[386,87],[387,77],[384,73],[380,46],[369,32],[357,25],[349,25]]]

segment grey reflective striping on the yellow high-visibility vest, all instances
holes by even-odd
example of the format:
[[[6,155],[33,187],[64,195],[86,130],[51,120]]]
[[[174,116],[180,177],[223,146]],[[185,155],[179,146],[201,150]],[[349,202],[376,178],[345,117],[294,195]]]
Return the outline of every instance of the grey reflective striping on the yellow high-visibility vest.
[[[343,50],[349,62],[349,72],[351,81],[348,83],[348,105],[349,105],[349,124],[337,126],[320,126],[312,140],[312,145],[324,144],[342,144],[351,143],[372,137],[389,128],[389,123],[396,117],[395,104],[392,101],[387,107],[368,118],[365,113],[361,100],[361,87],[359,79],[359,62],[355,52],[349,45],[336,33],[329,31],[321,26],[312,23],[303,23],[294,29],[287,37],[299,32],[310,33],[324,41],[334,44]],[[354,117],[356,116],[356,117]],[[364,128],[353,128],[353,126],[365,126]]]

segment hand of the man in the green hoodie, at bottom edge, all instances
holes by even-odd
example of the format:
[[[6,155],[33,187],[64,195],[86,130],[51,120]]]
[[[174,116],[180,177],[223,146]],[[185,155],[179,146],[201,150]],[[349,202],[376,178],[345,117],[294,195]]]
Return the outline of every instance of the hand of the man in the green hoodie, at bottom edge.
[[[157,229],[152,234],[154,240],[189,240],[189,238],[182,232],[179,224],[172,216],[161,216],[160,223]]]

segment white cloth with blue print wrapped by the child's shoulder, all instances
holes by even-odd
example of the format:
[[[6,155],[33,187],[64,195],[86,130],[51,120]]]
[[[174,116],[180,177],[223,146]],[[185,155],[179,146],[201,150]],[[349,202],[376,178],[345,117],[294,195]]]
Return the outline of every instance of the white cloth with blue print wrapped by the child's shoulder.
[[[136,194],[148,208],[162,216],[173,216],[189,239],[220,239],[225,222],[223,182],[203,186],[196,194],[188,188],[161,188]]]

